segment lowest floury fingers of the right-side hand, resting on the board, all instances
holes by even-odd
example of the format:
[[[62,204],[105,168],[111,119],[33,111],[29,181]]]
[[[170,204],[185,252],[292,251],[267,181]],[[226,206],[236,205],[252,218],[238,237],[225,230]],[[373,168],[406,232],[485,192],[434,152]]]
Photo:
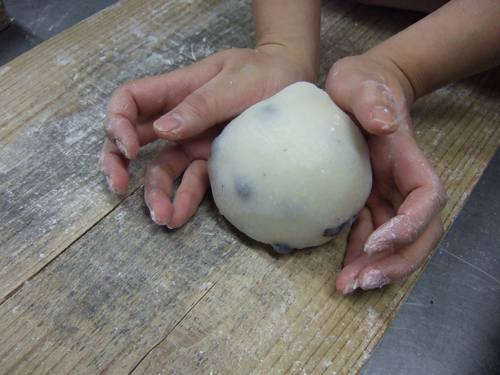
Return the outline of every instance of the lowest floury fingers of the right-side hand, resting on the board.
[[[437,217],[418,241],[396,253],[362,254],[339,273],[337,289],[348,294],[358,287],[369,290],[406,280],[425,263],[442,235],[443,224]]]

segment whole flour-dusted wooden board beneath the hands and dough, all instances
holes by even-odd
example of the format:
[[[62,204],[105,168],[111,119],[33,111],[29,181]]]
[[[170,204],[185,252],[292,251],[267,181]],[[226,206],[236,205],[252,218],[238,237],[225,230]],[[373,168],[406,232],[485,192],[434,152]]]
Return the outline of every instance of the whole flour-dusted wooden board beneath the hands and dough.
[[[337,59],[418,19],[330,1],[320,84]],[[210,195],[184,227],[154,225],[141,152],[126,197],[97,161],[119,84],[253,44],[249,2],[122,0],[0,68],[0,373],[357,373],[407,282],[335,292],[346,233],[276,256]],[[416,103],[417,140],[449,195],[446,228],[500,141],[499,72]]]

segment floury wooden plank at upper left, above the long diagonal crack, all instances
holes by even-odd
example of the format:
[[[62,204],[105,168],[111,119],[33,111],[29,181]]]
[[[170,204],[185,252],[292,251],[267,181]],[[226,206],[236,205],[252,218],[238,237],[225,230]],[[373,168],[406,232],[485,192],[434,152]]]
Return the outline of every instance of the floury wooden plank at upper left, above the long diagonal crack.
[[[0,301],[121,201],[97,169],[113,90],[250,43],[250,5],[235,5],[122,1],[0,69],[0,171],[13,176],[0,182]],[[134,161],[130,192],[158,147]]]

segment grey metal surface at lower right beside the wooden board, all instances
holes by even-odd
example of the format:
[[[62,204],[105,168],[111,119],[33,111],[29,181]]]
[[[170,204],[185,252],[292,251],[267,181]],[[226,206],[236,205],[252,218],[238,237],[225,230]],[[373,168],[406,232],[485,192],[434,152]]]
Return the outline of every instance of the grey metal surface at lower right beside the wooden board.
[[[364,375],[500,374],[500,152]]]

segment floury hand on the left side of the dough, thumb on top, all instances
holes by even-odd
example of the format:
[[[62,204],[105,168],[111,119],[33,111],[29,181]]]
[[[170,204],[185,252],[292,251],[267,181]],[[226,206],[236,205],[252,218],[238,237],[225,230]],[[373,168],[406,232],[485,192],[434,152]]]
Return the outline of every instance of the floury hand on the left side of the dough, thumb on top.
[[[141,146],[158,138],[182,140],[160,151],[145,185],[153,219],[178,227],[196,211],[208,187],[206,160],[220,131],[211,128],[296,81],[315,78],[296,52],[267,44],[219,52],[171,73],[127,83],[116,90],[108,108],[101,171],[109,187],[124,194],[130,181],[127,167]],[[173,180],[184,170],[172,205]]]

